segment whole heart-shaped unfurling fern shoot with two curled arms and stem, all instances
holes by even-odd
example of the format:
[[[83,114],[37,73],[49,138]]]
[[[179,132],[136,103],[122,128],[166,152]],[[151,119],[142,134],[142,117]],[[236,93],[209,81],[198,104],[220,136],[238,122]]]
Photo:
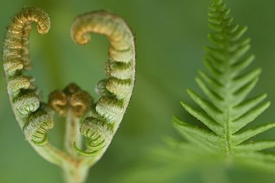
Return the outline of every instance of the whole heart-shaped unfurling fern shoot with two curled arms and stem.
[[[34,78],[24,74],[32,68],[29,53],[31,23],[39,33],[50,29],[50,18],[40,8],[24,8],[8,27],[3,49],[3,69],[14,115],[28,143],[45,160],[63,168],[65,180],[85,182],[89,167],[107,150],[118,130],[131,98],[135,82],[135,43],[128,25],[119,16],[105,11],[89,12],[76,18],[72,39],[89,42],[89,34],[109,38],[109,60],[105,66],[107,79],[98,83],[100,99],[94,99],[76,84],[55,90],[43,103]],[[54,114],[65,117],[65,151],[51,145],[47,131],[54,127]],[[87,137],[81,150],[82,137]],[[79,147],[79,148],[78,148]]]

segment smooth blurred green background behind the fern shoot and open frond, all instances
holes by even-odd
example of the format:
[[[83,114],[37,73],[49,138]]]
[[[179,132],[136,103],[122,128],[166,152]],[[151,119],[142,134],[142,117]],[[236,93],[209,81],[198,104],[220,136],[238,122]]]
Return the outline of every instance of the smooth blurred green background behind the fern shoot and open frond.
[[[251,53],[257,58],[253,66],[263,68],[254,94],[267,92],[270,101],[275,103],[272,81],[275,77],[275,1],[227,0],[225,3],[238,23],[248,25],[246,35],[252,38]],[[75,45],[69,29],[78,14],[109,10],[126,19],[133,29],[137,46],[137,82],[133,97],[118,133],[102,160],[91,168],[87,182],[132,182],[133,171],[138,175],[138,164],[146,160],[148,149],[162,143],[163,136],[182,139],[170,121],[173,114],[194,121],[181,109],[179,101],[190,101],[186,88],[198,90],[193,78],[197,70],[203,68],[203,46],[208,45],[206,14],[209,4],[210,0],[0,1],[0,40],[11,17],[24,6],[39,6],[50,14],[50,32],[41,36],[34,29],[30,45],[34,63],[30,74],[36,77],[45,100],[48,93],[69,82],[78,83],[96,96],[94,87],[104,77],[109,42],[104,36],[93,35],[89,45]],[[62,182],[61,169],[39,157],[24,140],[5,93],[2,69],[0,83],[0,183]],[[274,110],[273,105],[253,125],[275,121]],[[54,140],[56,145],[61,144],[63,125],[63,121],[56,123],[50,132],[52,140],[60,139]],[[275,130],[259,136],[274,137]],[[181,171],[181,166],[174,168]],[[182,170],[177,178],[166,182],[223,183],[211,179],[216,170],[209,171],[211,169],[201,175]],[[224,182],[275,180],[275,172],[227,168],[223,173]],[[146,182],[146,178],[140,178],[140,182]]]

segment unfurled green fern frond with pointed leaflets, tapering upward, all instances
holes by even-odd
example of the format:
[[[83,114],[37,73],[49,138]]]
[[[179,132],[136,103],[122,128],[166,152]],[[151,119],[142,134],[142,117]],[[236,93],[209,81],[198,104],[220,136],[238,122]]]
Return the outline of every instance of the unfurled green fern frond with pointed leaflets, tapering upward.
[[[248,98],[259,80],[261,69],[245,71],[255,56],[247,54],[250,38],[243,38],[248,27],[233,23],[230,9],[221,0],[213,0],[208,21],[213,30],[208,35],[212,47],[206,47],[204,64],[207,72],[199,71],[196,82],[208,99],[188,89],[188,95],[201,110],[181,102],[184,109],[206,127],[197,127],[174,118],[175,127],[191,143],[206,151],[227,157],[253,156],[262,158],[263,149],[275,147],[275,141],[249,141],[250,138],[275,127],[267,123],[244,129],[269,106],[266,94]],[[268,155],[270,156],[270,155]]]

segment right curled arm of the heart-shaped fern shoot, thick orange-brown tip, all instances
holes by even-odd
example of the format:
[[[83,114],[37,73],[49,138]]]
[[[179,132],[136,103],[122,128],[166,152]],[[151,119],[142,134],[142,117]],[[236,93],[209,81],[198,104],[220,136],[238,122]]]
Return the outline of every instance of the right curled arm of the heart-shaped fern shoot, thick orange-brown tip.
[[[107,79],[100,81],[96,88],[100,95],[96,103],[98,116],[87,117],[80,127],[80,133],[87,137],[87,149],[80,150],[74,144],[80,154],[94,156],[109,146],[131,98],[135,82],[135,42],[124,20],[105,11],[78,16],[71,33],[79,45],[87,44],[91,33],[103,34],[110,41],[105,66]]]

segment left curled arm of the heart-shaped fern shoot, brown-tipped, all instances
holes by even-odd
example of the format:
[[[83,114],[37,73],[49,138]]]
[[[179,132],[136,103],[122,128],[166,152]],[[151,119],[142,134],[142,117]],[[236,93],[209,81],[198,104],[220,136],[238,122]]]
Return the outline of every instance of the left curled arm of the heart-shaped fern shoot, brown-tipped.
[[[25,137],[35,145],[47,144],[46,132],[54,126],[47,112],[39,110],[41,102],[33,78],[23,75],[32,67],[29,53],[31,23],[37,23],[40,34],[50,29],[50,18],[40,8],[24,8],[8,26],[3,49],[3,69],[14,114]]]

